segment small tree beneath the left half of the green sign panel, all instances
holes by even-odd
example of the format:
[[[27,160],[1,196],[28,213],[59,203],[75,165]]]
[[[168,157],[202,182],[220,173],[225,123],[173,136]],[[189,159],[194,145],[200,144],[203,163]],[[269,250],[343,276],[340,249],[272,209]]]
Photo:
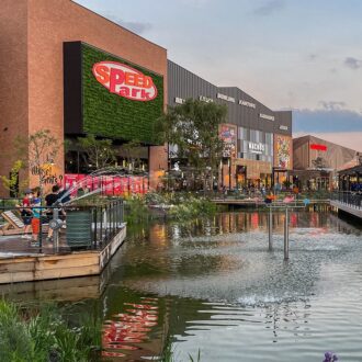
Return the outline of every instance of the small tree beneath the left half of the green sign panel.
[[[78,143],[93,168],[101,169],[115,161],[115,150],[111,139],[97,139],[94,135],[88,134],[87,137],[78,137]]]

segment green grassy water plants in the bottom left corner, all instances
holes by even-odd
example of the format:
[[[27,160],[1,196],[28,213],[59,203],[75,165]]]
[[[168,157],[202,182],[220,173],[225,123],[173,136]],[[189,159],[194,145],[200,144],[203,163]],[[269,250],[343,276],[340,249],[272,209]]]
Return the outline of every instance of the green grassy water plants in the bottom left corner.
[[[101,324],[80,318],[70,326],[55,306],[22,307],[0,301],[0,361],[98,361]]]

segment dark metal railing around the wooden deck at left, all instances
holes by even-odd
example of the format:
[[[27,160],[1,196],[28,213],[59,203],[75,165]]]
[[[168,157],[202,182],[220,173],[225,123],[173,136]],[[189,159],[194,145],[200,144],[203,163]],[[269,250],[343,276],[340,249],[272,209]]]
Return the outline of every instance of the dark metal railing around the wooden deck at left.
[[[58,205],[26,207],[29,216],[22,216],[23,207],[14,206],[19,200],[0,200],[0,236],[14,235],[12,239],[23,240],[26,223],[32,223],[35,214],[41,214],[37,242],[23,240],[26,250],[59,252],[66,250],[103,249],[124,227],[124,203],[122,199],[108,200],[94,205]],[[27,218],[26,218],[27,217]],[[25,223],[24,223],[25,222]],[[52,239],[47,236],[52,234]],[[10,244],[11,245],[11,244]],[[53,245],[53,250],[49,246]],[[0,245],[0,251],[4,247]],[[8,250],[11,251],[11,250]]]

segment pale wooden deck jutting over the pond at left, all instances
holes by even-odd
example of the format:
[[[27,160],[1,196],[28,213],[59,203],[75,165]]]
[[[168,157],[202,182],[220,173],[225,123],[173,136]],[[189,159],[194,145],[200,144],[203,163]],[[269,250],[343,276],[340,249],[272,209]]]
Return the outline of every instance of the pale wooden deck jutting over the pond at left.
[[[98,275],[126,237],[125,224],[101,250],[71,251],[60,238],[60,251],[52,244],[31,247],[20,236],[0,237],[0,284]]]

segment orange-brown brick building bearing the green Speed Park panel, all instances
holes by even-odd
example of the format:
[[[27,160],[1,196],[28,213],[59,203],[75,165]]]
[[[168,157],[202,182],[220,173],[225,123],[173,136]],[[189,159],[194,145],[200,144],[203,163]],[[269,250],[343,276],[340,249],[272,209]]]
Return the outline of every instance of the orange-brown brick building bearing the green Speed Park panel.
[[[70,0],[2,0],[0,24],[0,174],[18,157],[15,137],[39,129],[61,144],[53,182],[67,171],[65,138],[88,133],[137,139],[151,180],[167,168],[167,149],[152,139],[167,104],[165,48]],[[67,167],[76,161],[70,149]],[[32,170],[20,177],[35,184]]]

